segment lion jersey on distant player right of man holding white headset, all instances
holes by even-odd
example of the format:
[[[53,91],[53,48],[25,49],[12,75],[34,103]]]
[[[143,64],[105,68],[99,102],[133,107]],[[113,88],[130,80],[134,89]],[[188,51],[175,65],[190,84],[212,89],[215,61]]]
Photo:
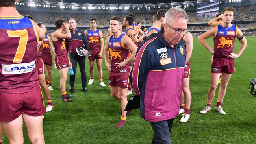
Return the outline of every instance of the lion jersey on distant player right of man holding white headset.
[[[87,41],[89,43],[90,50],[98,50],[100,49],[100,30],[91,31],[87,30]]]

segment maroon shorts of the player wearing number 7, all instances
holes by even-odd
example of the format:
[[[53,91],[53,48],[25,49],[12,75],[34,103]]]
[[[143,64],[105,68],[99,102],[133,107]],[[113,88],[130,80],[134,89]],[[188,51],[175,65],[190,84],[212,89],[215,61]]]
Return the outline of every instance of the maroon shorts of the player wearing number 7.
[[[46,113],[41,88],[22,94],[0,92],[0,122],[10,122],[21,114],[42,116]]]

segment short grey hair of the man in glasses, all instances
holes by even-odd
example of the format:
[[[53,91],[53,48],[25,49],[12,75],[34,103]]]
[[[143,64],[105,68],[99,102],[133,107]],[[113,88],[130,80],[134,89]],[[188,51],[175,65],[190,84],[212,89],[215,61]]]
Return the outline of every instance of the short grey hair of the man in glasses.
[[[172,23],[175,18],[188,20],[188,15],[184,9],[180,7],[173,7],[165,13],[164,23]]]

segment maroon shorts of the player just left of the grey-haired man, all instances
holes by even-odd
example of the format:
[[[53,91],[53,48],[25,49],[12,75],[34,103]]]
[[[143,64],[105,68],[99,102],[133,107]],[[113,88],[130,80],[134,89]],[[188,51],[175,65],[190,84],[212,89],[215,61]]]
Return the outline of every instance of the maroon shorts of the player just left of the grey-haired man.
[[[122,87],[125,88],[128,86],[129,82],[129,73],[114,73],[110,72],[109,73],[109,79],[108,79],[108,84],[112,87]]]

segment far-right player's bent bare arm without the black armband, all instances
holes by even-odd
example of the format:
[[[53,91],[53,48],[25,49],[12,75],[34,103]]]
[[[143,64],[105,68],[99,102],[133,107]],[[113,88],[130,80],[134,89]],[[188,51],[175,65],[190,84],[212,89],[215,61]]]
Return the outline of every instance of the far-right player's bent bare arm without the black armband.
[[[209,31],[206,31],[202,35],[198,37],[198,41],[204,46],[211,54],[214,54],[214,49],[211,48],[211,46],[206,42],[206,39],[208,39],[211,36],[215,36],[215,33],[217,31],[217,28],[211,28]]]

